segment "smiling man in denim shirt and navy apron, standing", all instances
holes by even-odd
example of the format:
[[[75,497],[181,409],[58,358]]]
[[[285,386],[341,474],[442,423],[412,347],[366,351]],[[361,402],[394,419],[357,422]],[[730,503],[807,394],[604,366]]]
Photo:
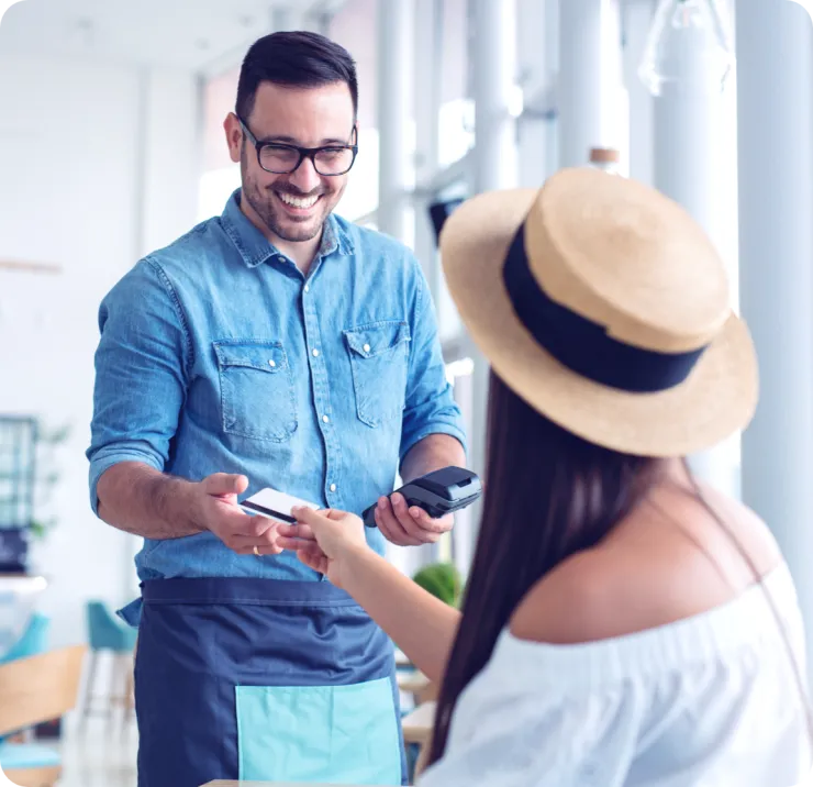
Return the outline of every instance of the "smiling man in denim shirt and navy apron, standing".
[[[399,469],[464,464],[464,434],[417,264],[332,214],[356,107],[342,47],[256,42],[224,123],[242,189],[101,304],[91,501],[145,539],[122,610],[140,627],[140,787],[405,784],[389,640],[236,506],[267,486],[378,500],[379,552],[452,526],[388,497]]]

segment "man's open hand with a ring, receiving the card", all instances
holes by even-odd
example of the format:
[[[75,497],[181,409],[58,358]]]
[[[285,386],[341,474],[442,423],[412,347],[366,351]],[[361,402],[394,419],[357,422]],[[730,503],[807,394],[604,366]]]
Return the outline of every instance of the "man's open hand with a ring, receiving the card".
[[[245,476],[215,473],[192,486],[194,521],[214,533],[238,555],[278,555],[277,523],[266,517],[252,517],[237,506],[237,495],[248,488]]]

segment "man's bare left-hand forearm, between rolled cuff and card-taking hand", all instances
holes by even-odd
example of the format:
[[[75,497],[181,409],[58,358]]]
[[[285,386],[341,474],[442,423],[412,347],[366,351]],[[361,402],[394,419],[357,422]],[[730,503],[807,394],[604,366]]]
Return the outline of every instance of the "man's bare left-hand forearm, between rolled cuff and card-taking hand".
[[[99,517],[145,539],[193,535],[201,532],[194,522],[193,487],[141,462],[121,462],[99,479]]]

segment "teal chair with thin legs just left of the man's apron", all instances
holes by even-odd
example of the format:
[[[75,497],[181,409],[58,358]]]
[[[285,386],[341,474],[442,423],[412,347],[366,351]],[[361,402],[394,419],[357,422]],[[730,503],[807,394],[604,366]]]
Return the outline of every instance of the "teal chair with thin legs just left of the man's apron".
[[[113,708],[121,705],[124,709],[124,719],[134,708],[133,701],[133,652],[137,630],[132,629],[123,621],[119,621],[103,601],[88,601],[86,607],[88,621],[88,641],[90,643],[90,665],[85,685],[82,700],[81,725],[94,712],[93,689],[101,653],[113,656],[112,680],[107,694],[107,707],[103,712],[110,719]]]

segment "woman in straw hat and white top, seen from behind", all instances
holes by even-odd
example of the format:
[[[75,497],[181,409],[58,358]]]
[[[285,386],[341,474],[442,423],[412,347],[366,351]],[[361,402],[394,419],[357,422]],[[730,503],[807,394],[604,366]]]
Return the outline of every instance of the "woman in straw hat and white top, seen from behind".
[[[280,530],[443,680],[421,784],[801,784],[790,574],[768,528],[682,458],[757,400],[709,240],[657,192],[571,169],[465,203],[442,253],[493,368],[463,614],[372,554],[353,514]]]

